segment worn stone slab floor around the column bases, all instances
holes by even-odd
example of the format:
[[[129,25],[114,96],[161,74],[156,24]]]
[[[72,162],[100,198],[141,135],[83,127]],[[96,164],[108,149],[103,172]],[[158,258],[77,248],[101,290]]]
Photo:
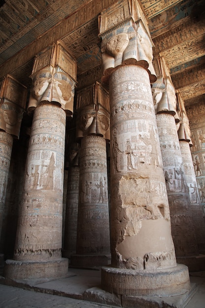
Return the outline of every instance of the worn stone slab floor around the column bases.
[[[0,308],[205,308],[205,272],[191,273],[188,295],[117,297],[100,288],[100,270],[69,268],[56,280],[6,281],[0,277]]]

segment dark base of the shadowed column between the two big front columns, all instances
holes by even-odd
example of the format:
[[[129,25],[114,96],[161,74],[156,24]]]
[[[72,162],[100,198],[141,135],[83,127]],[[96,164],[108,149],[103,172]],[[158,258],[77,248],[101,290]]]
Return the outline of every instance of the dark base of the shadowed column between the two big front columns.
[[[96,266],[105,266],[111,263],[111,255],[94,254],[72,254],[70,265],[73,267],[91,268]]]

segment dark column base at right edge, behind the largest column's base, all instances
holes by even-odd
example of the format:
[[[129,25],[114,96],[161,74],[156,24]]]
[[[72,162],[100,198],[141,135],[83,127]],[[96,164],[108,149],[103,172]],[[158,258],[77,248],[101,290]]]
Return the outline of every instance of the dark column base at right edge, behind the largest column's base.
[[[190,257],[176,257],[176,262],[188,267],[189,272],[205,271],[205,255],[199,254]]]

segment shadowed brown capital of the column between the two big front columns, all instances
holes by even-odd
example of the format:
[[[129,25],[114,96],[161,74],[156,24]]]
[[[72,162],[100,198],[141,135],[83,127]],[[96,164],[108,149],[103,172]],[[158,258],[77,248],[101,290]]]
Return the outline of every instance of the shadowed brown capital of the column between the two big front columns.
[[[78,92],[77,138],[99,135],[110,139],[109,94],[96,83]]]

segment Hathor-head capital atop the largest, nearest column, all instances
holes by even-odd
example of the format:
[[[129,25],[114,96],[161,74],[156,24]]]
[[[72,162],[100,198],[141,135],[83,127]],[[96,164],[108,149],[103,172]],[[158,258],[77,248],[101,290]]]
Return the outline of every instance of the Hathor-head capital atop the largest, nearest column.
[[[103,82],[108,82],[119,65],[134,64],[144,67],[150,81],[156,80],[152,65],[153,43],[139,3],[121,1],[99,16],[99,37],[102,38]]]

